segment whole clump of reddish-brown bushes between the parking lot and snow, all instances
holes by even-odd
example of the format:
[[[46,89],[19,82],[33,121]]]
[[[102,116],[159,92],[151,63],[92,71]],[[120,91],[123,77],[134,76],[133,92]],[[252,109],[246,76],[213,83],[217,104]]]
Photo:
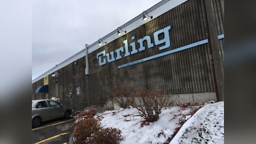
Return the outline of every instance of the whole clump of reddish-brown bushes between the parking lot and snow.
[[[82,143],[119,143],[122,140],[121,131],[115,128],[102,129],[100,122],[94,119],[98,107],[86,108],[76,116],[74,124],[75,144]]]

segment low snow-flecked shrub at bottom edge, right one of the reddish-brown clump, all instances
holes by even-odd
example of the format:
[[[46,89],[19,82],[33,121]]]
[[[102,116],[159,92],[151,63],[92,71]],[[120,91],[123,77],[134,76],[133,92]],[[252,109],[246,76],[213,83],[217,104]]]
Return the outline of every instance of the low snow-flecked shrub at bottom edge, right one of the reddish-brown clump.
[[[91,144],[116,144],[122,140],[121,131],[116,128],[106,128],[94,132],[91,137],[89,137],[85,143]]]

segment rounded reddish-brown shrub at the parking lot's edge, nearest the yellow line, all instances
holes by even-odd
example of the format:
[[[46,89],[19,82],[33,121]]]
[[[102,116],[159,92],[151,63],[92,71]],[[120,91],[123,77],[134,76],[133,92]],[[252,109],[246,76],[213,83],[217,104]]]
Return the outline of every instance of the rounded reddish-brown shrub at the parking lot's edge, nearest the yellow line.
[[[97,119],[88,118],[74,124],[75,144],[85,143],[92,133],[99,131],[100,123]]]

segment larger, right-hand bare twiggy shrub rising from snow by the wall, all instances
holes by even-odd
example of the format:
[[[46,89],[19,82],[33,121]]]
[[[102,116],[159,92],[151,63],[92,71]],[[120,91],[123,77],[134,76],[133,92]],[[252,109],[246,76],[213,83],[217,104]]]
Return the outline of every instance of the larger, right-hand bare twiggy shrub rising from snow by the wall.
[[[162,108],[167,106],[169,99],[167,92],[163,91],[137,91],[134,95],[140,103],[140,106],[136,108],[148,122],[155,122],[159,119],[159,114]]]

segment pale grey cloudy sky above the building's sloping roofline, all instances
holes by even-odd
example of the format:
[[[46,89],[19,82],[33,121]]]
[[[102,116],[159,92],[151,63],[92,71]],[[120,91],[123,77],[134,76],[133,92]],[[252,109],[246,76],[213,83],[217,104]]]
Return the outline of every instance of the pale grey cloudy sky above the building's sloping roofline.
[[[32,79],[160,1],[32,1]]]

